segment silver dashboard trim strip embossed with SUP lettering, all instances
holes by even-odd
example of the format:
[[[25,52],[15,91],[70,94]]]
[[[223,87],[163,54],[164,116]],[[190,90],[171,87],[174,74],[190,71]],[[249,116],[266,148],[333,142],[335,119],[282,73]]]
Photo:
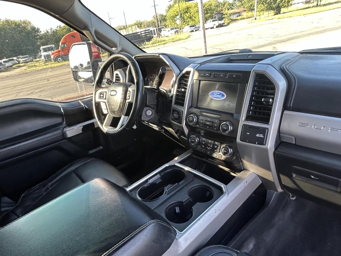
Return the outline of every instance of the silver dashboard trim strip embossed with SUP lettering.
[[[341,118],[284,111],[280,133],[297,145],[341,154]]]

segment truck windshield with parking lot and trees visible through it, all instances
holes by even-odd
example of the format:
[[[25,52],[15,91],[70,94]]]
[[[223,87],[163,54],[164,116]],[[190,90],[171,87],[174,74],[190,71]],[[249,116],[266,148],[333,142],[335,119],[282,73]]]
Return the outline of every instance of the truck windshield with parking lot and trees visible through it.
[[[258,0],[256,12],[254,0],[203,0],[206,24],[199,27],[205,31],[191,32],[182,29],[199,24],[198,1],[179,0],[179,5],[176,0],[81,1],[123,35],[161,26],[179,29],[179,34],[161,35],[159,29],[159,33],[130,39],[146,52],[201,56],[204,32],[208,54],[244,48],[298,52],[341,46],[341,2],[336,0]]]

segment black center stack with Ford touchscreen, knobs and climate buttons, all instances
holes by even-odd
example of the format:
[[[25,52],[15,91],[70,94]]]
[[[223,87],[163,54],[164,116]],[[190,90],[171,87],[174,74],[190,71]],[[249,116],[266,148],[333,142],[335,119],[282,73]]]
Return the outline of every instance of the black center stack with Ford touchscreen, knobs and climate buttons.
[[[236,138],[253,65],[206,64],[193,71],[188,82],[183,122],[189,146],[211,160],[239,172],[243,169]],[[176,110],[174,102],[173,112]],[[172,115],[172,118],[174,115]]]

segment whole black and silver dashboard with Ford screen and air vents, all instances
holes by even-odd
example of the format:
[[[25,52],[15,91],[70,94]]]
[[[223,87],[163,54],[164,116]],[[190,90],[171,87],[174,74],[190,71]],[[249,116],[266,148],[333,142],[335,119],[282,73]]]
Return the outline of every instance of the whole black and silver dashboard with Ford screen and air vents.
[[[267,189],[341,208],[340,55],[146,53],[136,60],[147,87],[167,68],[170,103],[159,131],[171,130],[201,159],[256,173]]]

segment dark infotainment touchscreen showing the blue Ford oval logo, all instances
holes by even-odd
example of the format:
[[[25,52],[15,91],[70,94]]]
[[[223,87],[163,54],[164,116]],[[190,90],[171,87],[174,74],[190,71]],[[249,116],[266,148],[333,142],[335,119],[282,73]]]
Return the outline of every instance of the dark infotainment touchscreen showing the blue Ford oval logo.
[[[198,108],[235,113],[239,84],[200,81]]]

